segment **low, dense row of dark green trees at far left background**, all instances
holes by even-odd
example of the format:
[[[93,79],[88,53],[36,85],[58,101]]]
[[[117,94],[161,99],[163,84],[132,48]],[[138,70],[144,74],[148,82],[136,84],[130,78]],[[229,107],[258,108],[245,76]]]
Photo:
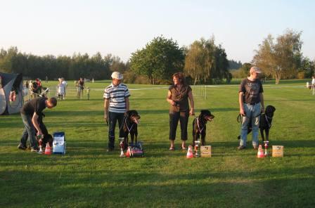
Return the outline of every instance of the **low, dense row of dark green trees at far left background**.
[[[0,51],[0,70],[8,73],[22,73],[28,79],[110,79],[113,71],[129,70],[129,62],[124,63],[117,56],[101,53],[89,56],[87,53],[75,53],[73,56],[34,56],[21,53],[17,47]]]

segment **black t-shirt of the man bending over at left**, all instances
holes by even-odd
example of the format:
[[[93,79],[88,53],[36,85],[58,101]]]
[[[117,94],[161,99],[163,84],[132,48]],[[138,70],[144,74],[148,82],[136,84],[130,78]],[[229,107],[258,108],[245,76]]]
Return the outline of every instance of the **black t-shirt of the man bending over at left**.
[[[37,115],[41,115],[41,112],[46,108],[45,101],[47,98],[35,98],[25,103],[21,108],[20,112],[24,115],[34,115],[36,112]]]

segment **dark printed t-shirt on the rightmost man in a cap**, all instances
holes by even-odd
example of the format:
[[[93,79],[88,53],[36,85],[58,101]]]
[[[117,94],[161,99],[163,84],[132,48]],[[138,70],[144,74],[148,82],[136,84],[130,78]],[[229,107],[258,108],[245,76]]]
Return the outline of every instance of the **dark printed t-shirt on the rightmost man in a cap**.
[[[263,93],[262,82],[259,79],[250,81],[246,78],[240,82],[240,90],[238,92],[244,93],[244,103],[255,104],[260,102],[259,93]]]

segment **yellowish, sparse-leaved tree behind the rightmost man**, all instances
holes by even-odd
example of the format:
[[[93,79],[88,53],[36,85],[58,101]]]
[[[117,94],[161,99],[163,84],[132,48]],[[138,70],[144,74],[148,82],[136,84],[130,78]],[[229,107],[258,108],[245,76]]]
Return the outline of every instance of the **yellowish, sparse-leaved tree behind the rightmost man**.
[[[252,60],[254,65],[260,67],[265,74],[271,74],[276,79],[276,84],[283,77],[293,77],[302,60],[302,32],[287,30],[280,35],[274,43],[274,38],[269,36],[259,44],[258,50]]]

